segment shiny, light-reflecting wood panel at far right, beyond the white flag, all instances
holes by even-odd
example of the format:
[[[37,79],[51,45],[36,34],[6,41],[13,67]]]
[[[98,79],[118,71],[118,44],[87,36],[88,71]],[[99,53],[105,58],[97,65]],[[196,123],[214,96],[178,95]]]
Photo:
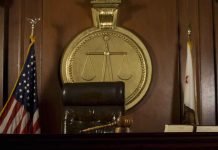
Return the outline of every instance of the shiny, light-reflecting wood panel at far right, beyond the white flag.
[[[199,0],[202,125],[216,117],[212,1]]]

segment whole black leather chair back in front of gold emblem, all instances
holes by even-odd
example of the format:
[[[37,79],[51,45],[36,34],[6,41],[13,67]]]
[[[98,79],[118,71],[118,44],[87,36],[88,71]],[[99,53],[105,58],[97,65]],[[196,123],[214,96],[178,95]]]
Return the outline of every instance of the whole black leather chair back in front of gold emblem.
[[[62,88],[62,133],[81,133],[83,129],[109,124],[125,112],[124,82],[65,83]],[[115,127],[90,133],[110,133]]]

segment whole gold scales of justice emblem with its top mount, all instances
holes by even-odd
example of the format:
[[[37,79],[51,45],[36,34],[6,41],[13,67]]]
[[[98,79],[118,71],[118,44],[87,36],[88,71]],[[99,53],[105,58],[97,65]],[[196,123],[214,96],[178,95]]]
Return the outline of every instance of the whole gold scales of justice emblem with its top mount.
[[[61,61],[63,83],[125,83],[125,109],[148,91],[152,63],[144,44],[127,29],[117,27],[121,0],[91,0],[94,27],[80,33]]]

